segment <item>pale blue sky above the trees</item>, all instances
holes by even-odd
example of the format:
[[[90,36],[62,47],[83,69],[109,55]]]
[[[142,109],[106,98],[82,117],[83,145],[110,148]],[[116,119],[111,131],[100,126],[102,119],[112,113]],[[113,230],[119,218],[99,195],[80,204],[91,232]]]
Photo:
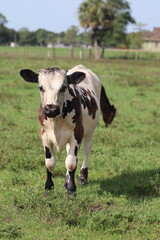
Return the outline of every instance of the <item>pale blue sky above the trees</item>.
[[[0,0],[0,13],[8,20],[6,27],[19,30],[27,27],[30,31],[39,28],[62,32],[71,25],[80,27],[78,8],[84,0]],[[144,29],[152,31],[160,27],[160,0],[128,0],[132,16]],[[82,31],[82,29],[80,29]],[[134,25],[127,32],[135,31]]]

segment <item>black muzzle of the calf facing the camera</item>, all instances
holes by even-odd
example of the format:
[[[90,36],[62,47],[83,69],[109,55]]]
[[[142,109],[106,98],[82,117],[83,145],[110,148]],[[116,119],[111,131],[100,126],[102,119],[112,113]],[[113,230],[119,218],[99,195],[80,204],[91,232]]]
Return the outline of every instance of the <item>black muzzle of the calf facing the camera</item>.
[[[43,108],[43,113],[46,117],[54,118],[60,114],[60,108],[58,105],[47,104]]]

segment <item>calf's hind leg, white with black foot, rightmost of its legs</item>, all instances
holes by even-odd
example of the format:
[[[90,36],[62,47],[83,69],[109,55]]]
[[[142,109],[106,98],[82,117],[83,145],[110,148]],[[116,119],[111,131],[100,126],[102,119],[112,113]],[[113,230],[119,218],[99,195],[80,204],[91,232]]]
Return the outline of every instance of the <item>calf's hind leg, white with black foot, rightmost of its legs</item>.
[[[83,159],[83,164],[80,170],[80,175],[79,175],[79,184],[85,184],[87,183],[88,179],[88,155],[91,151],[92,147],[92,134],[87,135],[84,138],[84,159]]]

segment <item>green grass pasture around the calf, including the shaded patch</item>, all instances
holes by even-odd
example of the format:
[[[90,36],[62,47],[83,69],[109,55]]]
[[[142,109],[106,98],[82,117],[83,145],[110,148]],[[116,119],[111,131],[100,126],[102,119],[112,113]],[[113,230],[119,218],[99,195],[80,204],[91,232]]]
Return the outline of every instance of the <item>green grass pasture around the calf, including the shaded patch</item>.
[[[160,239],[160,66],[158,61],[81,61],[0,55],[0,238],[23,240]],[[56,154],[55,189],[43,197],[39,92],[22,68],[82,63],[100,77],[117,108],[93,138],[89,183],[77,198],[63,190],[65,151]],[[79,167],[82,160],[79,154]]]

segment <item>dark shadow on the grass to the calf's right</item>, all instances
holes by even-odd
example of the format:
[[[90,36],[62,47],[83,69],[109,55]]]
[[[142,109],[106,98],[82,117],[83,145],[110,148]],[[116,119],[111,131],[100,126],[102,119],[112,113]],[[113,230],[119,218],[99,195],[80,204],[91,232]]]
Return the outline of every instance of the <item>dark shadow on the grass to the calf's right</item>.
[[[124,172],[119,176],[96,181],[96,183],[100,184],[100,190],[98,190],[100,195],[110,192],[114,196],[126,195],[136,199],[158,197],[160,196],[160,169]]]

